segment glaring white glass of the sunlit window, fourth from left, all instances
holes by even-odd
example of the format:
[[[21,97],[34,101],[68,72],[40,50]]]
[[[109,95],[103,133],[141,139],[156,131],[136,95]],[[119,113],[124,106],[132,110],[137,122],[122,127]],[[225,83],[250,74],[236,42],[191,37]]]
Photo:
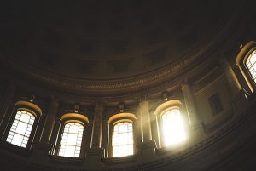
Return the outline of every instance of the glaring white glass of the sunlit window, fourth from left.
[[[162,128],[166,146],[178,145],[187,138],[183,119],[178,109],[171,109],[162,115]]]

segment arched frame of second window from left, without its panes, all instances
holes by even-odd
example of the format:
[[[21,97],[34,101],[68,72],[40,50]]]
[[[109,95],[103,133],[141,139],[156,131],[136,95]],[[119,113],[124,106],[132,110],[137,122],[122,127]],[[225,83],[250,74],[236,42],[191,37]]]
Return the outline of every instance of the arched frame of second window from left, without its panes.
[[[89,128],[89,119],[84,114],[80,113],[66,113],[62,115],[60,118],[60,127],[57,134],[57,138],[55,140],[55,150],[53,155],[56,157],[64,157],[59,155],[60,147],[61,147],[61,137],[64,133],[64,128],[67,123],[80,123],[84,126],[83,135],[82,135],[82,142],[80,147],[80,154],[79,157],[67,157],[67,158],[84,158],[85,157],[85,141],[86,139],[90,139],[89,135],[87,134]]]

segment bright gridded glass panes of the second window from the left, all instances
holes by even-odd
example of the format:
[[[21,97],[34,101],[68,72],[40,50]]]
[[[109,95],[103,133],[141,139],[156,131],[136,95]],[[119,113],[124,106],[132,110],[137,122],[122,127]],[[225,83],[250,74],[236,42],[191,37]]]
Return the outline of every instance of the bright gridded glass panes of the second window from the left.
[[[59,156],[79,157],[84,126],[80,123],[67,123],[61,137]]]

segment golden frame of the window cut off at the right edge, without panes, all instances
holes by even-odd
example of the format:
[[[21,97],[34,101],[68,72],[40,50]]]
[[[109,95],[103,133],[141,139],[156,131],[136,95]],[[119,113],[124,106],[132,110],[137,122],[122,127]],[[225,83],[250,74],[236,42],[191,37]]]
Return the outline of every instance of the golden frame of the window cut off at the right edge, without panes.
[[[253,76],[251,74],[251,72],[248,70],[247,67],[247,59],[250,56],[250,54],[253,53],[253,51],[256,50],[256,42],[251,41],[249,43],[247,43],[243,48],[241,48],[241,51],[239,52],[239,54],[236,57],[236,64],[239,67],[242,76],[244,77],[248,88],[251,90],[251,92],[253,93],[256,89],[256,83],[253,79]]]

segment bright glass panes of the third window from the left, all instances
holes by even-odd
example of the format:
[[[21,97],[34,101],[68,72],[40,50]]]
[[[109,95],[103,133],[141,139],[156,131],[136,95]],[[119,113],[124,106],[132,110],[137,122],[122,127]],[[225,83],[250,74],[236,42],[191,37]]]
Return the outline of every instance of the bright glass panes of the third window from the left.
[[[133,154],[132,123],[117,123],[113,127],[113,157],[125,157]]]

